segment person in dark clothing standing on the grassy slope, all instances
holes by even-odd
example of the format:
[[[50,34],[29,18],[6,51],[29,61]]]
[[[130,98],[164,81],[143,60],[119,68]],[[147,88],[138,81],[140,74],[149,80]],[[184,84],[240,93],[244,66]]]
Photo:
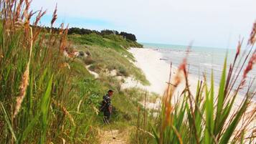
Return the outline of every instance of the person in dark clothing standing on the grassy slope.
[[[108,94],[103,96],[103,103],[100,110],[103,111],[104,123],[108,123],[110,120],[110,115],[112,113],[111,97],[113,96],[113,90],[108,90]]]

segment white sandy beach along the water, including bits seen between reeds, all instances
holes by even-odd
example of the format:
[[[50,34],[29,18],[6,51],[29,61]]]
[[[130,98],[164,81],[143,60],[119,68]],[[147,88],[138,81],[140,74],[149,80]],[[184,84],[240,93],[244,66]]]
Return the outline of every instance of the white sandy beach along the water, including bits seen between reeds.
[[[155,92],[158,95],[163,96],[163,93],[167,87],[167,82],[169,81],[170,64],[163,60],[161,52],[158,52],[157,49],[151,48],[131,48],[128,51],[131,52],[131,54],[133,54],[133,57],[135,57],[136,59],[136,62],[133,62],[133,64],[135,64],[136,67],[140,68],[143,71],[144,75],[151,83],[151,85],[143,86],[141,84],[138,84],[138,82],[135,85],[136,81],[129,81],[128,85],[126,85],[125,88],[139,87],[143,90],[147,90],[148,92]],[[178,67],[172,65],[171,82],[174,81],[173,79],[177,69]],[[197,82],[199,80],[199,77],[196,77],[195,75],[189,73],[188,80],[189,88],[192,95],[194,95],[196,94]],[[207,82],[207,85],[209,85],[209,82]],[[179,95],[185,87],[186,82],[183,79],[181,80],[179,86],[176,87],[174,95]],[[214,85],[214,95],[218,95],[218,87],[219,85]],[[234,107],[239,107],[243,99],[244,98],[241,95],[237,95],[236,99],[234,100]],[[255,100],[252,99],[251,103],[252,107],[250,107],[250,109],[256,107]]]

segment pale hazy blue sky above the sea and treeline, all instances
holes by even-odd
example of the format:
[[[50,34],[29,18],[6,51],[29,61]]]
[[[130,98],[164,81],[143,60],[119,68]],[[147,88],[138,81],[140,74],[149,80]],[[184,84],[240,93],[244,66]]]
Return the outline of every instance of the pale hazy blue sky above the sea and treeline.
[[[56,4],[55,27],[115,29],[161,44],[235,48],[256,20],[255,0],[34,0],[33,10],[47,10],[42,25]]]

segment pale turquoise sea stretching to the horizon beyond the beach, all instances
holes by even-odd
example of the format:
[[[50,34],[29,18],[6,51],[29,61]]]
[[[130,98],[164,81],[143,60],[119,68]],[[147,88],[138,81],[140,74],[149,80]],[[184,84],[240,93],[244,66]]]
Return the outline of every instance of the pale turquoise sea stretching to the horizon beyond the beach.
[[[156,49],[158,52],[161,52],[163,55],[162,60],[172,64],[176,67],[181,64],[184,57],[186,57],[187,46],[183,45],[174,45],[174,44],[151,44],[151,43],[142,43],[143,47]],[[224,58],[227,55],[227,67],[234,61],[234,56],[237,49],[222,49],[214,47],[191,47],[189,56],[187,57],[187,63],[189,68],[189,74],[199,77],[200,80],[203,80],[203,75],[207,76],[207,81],[209,82],[211,73],[214,73],[214,85],[219,85],[219,81],[222,75],[222,69],[224,65]],[[241,50],[242,54],[242,50]],[[240,54],[240,55],[241,55]],[[237,63],[239,59],[238,57]],[[247,66],[247,62],[245,63]],[[239,67],[236,67],[239,68]],[[228,69],[227,69],[228,70]],[[243,70],[240,73],[235,87],[240,84],[242,80]],[[248,82],[252,81],[256,77],[256,67],[247,75],[247,85]],[[240,90],[240,95],[244,95],[247,92],[247,85]],[[256,88],[256,82],[254,86]],[[256,97],[253,97],[256,100]]]

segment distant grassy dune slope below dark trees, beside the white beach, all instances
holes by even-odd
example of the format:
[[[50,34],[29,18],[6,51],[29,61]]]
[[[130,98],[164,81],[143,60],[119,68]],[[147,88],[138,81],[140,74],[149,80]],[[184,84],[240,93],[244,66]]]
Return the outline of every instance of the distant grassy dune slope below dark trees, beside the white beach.
[[[117,70],[117,75],[124,77],[132,76],[143,85],[149,85],[141,69],[138,69],[134,62],[133,55],[128,52],[128,47],[134,42],[128,42],[120,36],[108,35],[103,38],[98,34],[71,35],[69,38],[73,42],[72,46],[83,52],[90,52],[90,59],[84,59],[86,64],[91,64],[90,69],[100,73],[108,69]],[[88,40],[89,39],[89,40]],[[118,39],[118,40],[117,40]],[[119,42],[120,41],[120,42]],[[125,47],[123,47],[125,45]]]

